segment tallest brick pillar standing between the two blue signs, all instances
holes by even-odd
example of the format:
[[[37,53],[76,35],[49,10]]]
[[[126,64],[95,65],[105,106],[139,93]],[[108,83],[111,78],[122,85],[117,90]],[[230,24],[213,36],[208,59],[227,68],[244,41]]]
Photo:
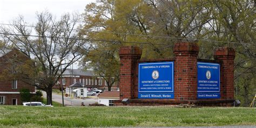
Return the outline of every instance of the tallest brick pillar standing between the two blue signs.
[[[180,42],[174,45],[174,99],[197,99],[197,55],[196,43]]]

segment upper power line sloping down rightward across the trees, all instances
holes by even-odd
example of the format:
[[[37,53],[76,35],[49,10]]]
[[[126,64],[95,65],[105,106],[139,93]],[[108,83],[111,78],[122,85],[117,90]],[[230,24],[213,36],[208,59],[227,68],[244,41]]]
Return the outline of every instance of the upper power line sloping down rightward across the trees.
[[[1,25],[1,23],[0,23]],[[16,26],[14,24],[2,24],[2,25],[12,25]],[[24,26],[29,26],[29,27],[36,27],[36,26],[30,26],[30,25],[24,25]],[[76,29],[74,29],[76,30]],[[193,39],[193,38],[180,38],[180,37],[167,37],[167,36],[154,36],[154,35],[140,35],[140,34],[131,34],[131,33],[121,33],[121,32],[103,32],[103,31],[91,31],[95,33],[114,33],[114,34],[120,34],[120,35],[133,35],[133,36],[146,36],[146,37],[157,37],[157,38],[170,38],[170,39],[187,39],[187,40],[192,40],[192,41],[204,41],[204,42],[209,42],[209,43],[232,43],[232,44],[252,44],[253,43],[239,43],[239,42],[227,42],[227,41],[214,41],[214,40],[209,40],[209,39]]]

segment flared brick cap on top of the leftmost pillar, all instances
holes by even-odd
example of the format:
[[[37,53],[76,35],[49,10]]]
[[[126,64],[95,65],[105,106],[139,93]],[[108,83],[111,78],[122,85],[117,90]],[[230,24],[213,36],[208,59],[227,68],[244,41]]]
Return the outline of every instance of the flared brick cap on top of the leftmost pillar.
[[[138,46],[122,46],[119,50],[119,56],[142,56],[142,50]]]

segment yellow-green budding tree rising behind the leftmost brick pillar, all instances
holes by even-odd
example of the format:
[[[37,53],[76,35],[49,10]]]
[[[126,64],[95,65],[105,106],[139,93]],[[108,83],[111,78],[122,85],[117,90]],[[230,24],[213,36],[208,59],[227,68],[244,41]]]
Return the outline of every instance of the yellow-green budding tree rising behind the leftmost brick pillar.
[[[113,83],[111,77],[115,80],[118,77],[118,71],[114,70],[119,69],[118,49],[120,46],[138,45],[143,49],[142,56],[144,58],[170,57],[172,56],[171,45],[174,44],[176,39],[154,38],[150,35],[159,33],[156,36],[187,37],[191,36],[192,32],[197,33],[195,31],[198,31],[206,23],[207,20],[202,18],[206,16],[201,11],[202,9],[195,10],[198,8],[197,5],[201,3],[186,8],[184,7],[186,3],[173,3],[175,3],[175,6],[171,6],[172,9],[169,9],[170,6],[166,6],[166,4],[172,5],[172,3],[156,3],[154,1],[99,1],[98,4],[91,3],[86,6],[83,14],[85,24],[80,31],[80,35],[86,36],[87,39],[103,41],[92,42],[94,50],[90,52],[91,57],[84,59],[86,62],[90,60],[90,63],[85,65],[92,67],[99,76],[106,75],[104,79],[108,85],[110,84],[109,90],[111,83]],[[191,12],[191,8],[194,13]],[[174,13],[181,10],[184,11],[179,14]],[[167,19],[164,19],[166,17]],[[181,18],[179,19],[179,25],[173,17]],[[196,22],[199,18],[205,20]],[[187,22],[183,22],[183,20]],[[190,30],[191,28],[192,30]],[[176,32],[173,33],[173,31]],[[186,33],[183,35],[185,31]],[[146,42],[147,44],[124,44],[123,42]]]

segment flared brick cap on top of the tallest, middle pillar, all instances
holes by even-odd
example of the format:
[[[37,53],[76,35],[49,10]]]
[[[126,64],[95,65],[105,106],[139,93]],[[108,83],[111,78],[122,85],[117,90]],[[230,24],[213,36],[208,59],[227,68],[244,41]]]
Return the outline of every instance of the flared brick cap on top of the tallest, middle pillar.
[[[178,42],[174,44],[173,52],[176,56],[182,56],[185,54],[197,56],[199,52],[199,46],[197,43]]]

